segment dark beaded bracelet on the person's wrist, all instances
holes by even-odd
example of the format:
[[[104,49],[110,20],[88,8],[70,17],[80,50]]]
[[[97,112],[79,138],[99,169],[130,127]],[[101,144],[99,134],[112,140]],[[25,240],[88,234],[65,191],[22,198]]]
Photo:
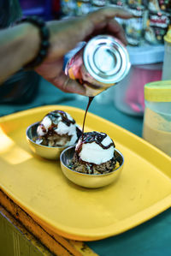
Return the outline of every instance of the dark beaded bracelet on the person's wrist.
[[[38,51],[37,57],[35,57],[32,62],[27,63],[23,68],[25,69],[32,69],[38,67],[41,63],[43,63],[44,58],[47,56],[49,47],[50,47],[50,32],[48,27],[46,27],[45,22],[37,17],[37,16],[28,16],[26,18],[22,18],[20,21],[17,21],[16,24],[21,24],[23,22],[30,22],[34,26],[38,27],[39,34],[40,34],[40,47]]]

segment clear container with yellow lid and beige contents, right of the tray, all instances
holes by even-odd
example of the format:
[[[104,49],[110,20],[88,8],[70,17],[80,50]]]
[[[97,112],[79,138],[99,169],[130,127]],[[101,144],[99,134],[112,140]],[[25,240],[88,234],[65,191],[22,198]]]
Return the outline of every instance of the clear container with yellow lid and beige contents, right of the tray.
[[[171,80],[144,86],[143,138],[171,157]]]

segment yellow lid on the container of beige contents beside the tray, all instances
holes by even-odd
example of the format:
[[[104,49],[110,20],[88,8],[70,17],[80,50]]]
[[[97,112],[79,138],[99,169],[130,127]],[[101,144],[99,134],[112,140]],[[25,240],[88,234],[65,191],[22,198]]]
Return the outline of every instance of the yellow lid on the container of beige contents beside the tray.
[[[171,102],[171,80],[160,80],[144,86],[144,99],[153,102]]]

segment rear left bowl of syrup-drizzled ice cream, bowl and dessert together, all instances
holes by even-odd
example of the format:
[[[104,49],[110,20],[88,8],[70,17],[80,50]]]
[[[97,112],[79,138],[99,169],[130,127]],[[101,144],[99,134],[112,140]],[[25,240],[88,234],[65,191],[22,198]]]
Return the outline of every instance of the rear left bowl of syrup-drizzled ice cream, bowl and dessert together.
[[[62,150],[75,145],[80,135],[74,118],[62,110],[51,111],[42,121],[27,128],[27,141],[32,152],[48,159],[59,158]]]

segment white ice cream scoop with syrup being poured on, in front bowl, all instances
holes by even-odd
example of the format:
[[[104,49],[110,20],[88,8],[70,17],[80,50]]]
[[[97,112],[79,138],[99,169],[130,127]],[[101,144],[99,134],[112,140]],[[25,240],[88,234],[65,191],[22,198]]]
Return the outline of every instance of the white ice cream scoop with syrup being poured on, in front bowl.
[[[114,158],[115,144],[107,134],[85,133],[76,148],[81,160],[91,164],[103,164]]]

